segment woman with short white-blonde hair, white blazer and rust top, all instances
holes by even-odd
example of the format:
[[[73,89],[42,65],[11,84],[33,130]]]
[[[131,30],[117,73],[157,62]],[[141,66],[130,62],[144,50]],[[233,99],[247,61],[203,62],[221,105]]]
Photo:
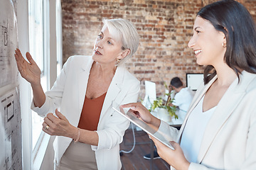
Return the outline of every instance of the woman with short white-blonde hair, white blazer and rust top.
[[[136,102],[139,81],[122,64],[134,55],[139,35],[124,19],[105,19],[91,56],[72,56],[44,94],[41,71],[27,52],[16,50],[21,76],[31,83],[31,108],[46,116],[43,131],[56,135],[55,169],[121,169],[119,144],[129,121],[111,109]],[[59,111],[57,110],[59,109]],[[55,115],[53,113],[55,112]]]

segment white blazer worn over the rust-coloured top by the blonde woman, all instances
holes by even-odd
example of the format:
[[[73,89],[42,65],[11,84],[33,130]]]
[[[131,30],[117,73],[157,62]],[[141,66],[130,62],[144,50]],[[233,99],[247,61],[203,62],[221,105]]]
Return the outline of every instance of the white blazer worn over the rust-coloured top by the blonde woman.
[[[32,102],[33,111],[45,116],[48,113],[55,113],[55,108],[59,108],[60,113],[65,115],[70,124],[77,127],[92,63],[92,57],[89,56],[69,57],[52,89],[46,92],[46,102],[41,108],[33,106]],[[99,143],[97,146],[92,146],[98,169],[121,169],[119,144],[122,142],[124,131],[129,127],[129,121],[122,115],[114,113],[111,108],[112,101],[118,104],[137,102],[139,88],[139,81],[127,69],[117,67],[100,113],[96,131],[99,135]],[[55,138],[54,163],[57,166],[70,142],[72,139],[68,137]]]

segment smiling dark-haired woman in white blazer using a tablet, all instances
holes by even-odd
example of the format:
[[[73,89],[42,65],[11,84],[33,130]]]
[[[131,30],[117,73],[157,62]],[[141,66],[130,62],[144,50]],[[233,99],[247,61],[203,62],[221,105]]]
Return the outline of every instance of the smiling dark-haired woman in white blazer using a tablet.
[[[256,169],[256,29],[250,13],[233,0],[203,7],[188,47],[207,67],[179,132],[139,103],[123,107],[176,141],[171,150],[153,138],[171,169]]]

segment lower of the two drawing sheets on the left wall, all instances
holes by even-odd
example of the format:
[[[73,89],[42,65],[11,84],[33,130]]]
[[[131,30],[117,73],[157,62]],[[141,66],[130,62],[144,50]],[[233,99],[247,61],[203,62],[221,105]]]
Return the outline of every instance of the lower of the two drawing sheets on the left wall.
[[[0,97],[0,169],[22,169],[18,87]]]

